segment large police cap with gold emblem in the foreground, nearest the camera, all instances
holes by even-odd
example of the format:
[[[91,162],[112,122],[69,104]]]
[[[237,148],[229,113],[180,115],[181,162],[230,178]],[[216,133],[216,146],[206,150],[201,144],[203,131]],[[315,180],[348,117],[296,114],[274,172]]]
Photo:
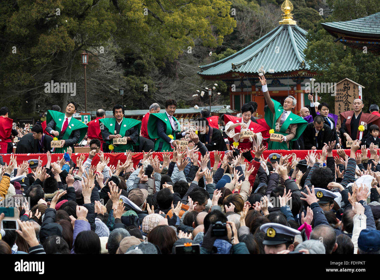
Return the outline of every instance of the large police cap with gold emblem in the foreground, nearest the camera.
[[[277,245],[287,242],[294,242],[294,236],[301,234],[296,229],[283,226],[275,222],[268,222],[260,227],[260,230],[265,233],[264,245]]]

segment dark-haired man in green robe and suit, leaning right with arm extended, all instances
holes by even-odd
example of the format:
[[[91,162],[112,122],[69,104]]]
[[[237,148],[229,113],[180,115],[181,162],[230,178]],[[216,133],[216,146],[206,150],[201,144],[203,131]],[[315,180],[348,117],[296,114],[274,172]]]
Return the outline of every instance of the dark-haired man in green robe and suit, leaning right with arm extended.
[[[165,101],[164,113],[149,115],[148,134],[151,139],[156,139],[154,149],[157,152],[173,151],[173,147],[177,146],[177,140],[190,133],[190,130],[180,131],[180,124],[173,116],[176,107],[177,102],[169,99]]]

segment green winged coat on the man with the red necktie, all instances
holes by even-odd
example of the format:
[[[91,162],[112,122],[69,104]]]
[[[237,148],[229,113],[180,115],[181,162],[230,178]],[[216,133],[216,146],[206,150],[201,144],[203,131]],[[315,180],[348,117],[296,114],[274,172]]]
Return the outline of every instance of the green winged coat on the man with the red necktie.
[[[61,112],[53,111],[53,110],[47,110],[46,124],[48,124],[49,122],[51,122],[51,120],[54,120],[54,122],[55,122],[55,130],[58,131],[58,132],[60,132],[61,128],[62,128],[62,125],[63,125],[63,122],[65,120],[65,114],[61,113]],[[76,118],[71,117],[70,123],[67,126],[65,132],[63,134],[60,133],[59,136],[57,136],[57,138],[59,140],[70,139],[71,133],[74,130],[78,130],[79,129],[80,132],[81,132],[81,136],[79,137],[79,141],[78,141],[78,143],[79,143],[79,142],[82,141],[82,139],[84,138],[84,136],[86,136],[87,128],[88,128],[87,125],[85,125],[81,121],[77,120]],[[50,132],[50,131],[48,131],[48,132]],[[71,146],[71,147],[72,147],[73,152],[74,152],[74,145]],[[66,150],[66,152],[67,152],[67,148],[68,148],[68,146],[62,147],[62,148],[54,148],[54,153],[61,154],[61,153],[63,153],[63,150]]]

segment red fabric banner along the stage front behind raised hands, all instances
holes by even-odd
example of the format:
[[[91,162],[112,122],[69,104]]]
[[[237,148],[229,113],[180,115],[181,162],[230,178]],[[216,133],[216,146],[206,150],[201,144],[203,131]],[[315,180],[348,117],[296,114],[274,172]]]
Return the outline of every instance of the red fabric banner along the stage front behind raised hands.
[[[344,151],[348,156],[350,156],[350,150],[344,150]],[[277,154],[282,154],[282,155],[288,155],[288,154],[295,153],[297,155],[297,157],[304,159],[307,156],[307,152],[308,152],[308,150],[266,150],[266,151],[264,151],[263,156],[264,156],[264,158],[267,158],[272,153],[277,153]],[[317,152],[321,153],[322,150],[317,150]],[[360,150],[358,150],[358,152],[360,152]],[[76,163],[76,159],[78,157],[80,157],[82,154],[83,153],[74,153],[71,155],[74,163]],[[43,162],[42,165],[46,165],[46,163],[47,163],[46,154],[2,154],[3,161],[6,163],[9,163],[9,158],[11,155],[14,155],[17,157],[17,163],[18,164],[22,163],[24,160],[38,159],[38,157],[40,157],[40,159],[42,160],[42,162]],[[89,154],[84,153],[84,155],[86,155],[86,159],[87,159]],[[110,158],[109,164],[115,165],[115,166],[117,165],[118,160],[120,160],[120,162],[124,163],[126,158],[127,158],[125,153],[105,153],[104,155],[105,155],[105,157]],[[154,152],[153,157],[155,157],[156,155],[158,156],[158,158],[160,160],[163,159],[163,153],[162,152]],[[222,152],[222,155],[224,155],[224,152]],[[332,150],[332,155],[334,157],[337,156],[336,150]],[[370,156],[370,154],[368,151],[368,157],[369,156]],[[58,157],[62,158],[63,154],[51,154],[51,160],[54,162],[57,161]],[[200,157],[200,153],[199,153],[199,157]],[[222,156],[222,158],[223,158],[223,156]],[[139,163],[139,161],[141,159],[142,159],[142,153],[133,153],[132,160],[133,160],[134,167],[136,167],[136,165]],[[213,152],[210,153],[210,160],[211,160],[211,166],[214,165],[214,153]],[[91,165],[97,165],[98,162],[99,162],[99,156],[95,155],[95,157],[93,157],[93,159],[92,159]]]

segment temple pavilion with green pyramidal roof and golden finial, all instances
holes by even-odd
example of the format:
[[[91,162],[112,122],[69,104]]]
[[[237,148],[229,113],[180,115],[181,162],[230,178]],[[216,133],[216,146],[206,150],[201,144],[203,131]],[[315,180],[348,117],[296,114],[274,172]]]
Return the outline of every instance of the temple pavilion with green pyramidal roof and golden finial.
[[[258,103],[258,117],[264,116],[266,105],[258,69],[263,66],[271,97],[283,103],[287,96],[297,99],[295,114],[310,104],[305,93],[305,83],[310,82],[316,73],[311,72],[305,62],[303,50],[306,48],[307,32],[297,26],[290,13],[293,4],[285,0],[281,5],[283,20],[266,35],[237,53],[220,61],[199,66],[198,72],[205,80],[223,80],[230,90],[231,109],[240,111],[242,104]],[[317,96],[315,96],[317,100]]]

